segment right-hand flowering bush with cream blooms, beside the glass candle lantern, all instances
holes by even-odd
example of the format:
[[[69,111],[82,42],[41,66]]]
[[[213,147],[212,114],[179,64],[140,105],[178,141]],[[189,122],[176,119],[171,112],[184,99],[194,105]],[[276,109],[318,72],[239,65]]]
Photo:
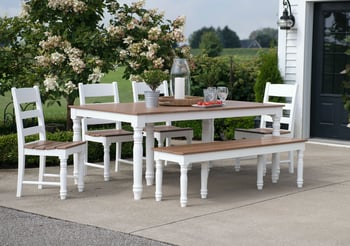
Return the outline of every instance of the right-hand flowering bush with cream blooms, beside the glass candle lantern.
[[[120,42],[116,50],[117,60],[125,65],[124,78],[140,80],[150,70],[170,71],[175,57],[190,58],[183,28],[185,17],[165,20],[157,9],[145,9],[140,0],[128,6],[109,5],[113,16],[107,28],[111,40]],[[161,83],[161,81],[159,82]]]

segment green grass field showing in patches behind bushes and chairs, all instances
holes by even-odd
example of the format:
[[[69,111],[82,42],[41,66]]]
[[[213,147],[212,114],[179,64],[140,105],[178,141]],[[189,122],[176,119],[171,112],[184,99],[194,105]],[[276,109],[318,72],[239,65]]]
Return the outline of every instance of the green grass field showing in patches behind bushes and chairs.
[[[234,56],[235,59],[253,59],[257,57],[258,52],[262,49],[224,49],[222,52],[222,56]],[[193,55],[199,54],[200,50],[193,49],[192,53]],[[111,83],[112,81],[118,82],[118,89],[119,89],[119,97],[121,102],[132,102],[132,89],[131,89],[131,82],[129,80],[123,79],[124,69],[118,68],[117,71],[110,72],[106,74],[101,82],[102,83]],[[4,123],[4,110],[5,107],[12,101],[11,99],[11,93],[7,92],[5,96],[1,96],[0,100],[0,124]],[[75,101],[76,104],[79,104],[79,100]],[[9,111],[11,112],[12,107],[9,108]],[[61,101],[61,106],[58,104],[54,104],[51,106],[44,106],[44,114],[46,119],[64,119],[66,117],[66,104],[65,101]]]

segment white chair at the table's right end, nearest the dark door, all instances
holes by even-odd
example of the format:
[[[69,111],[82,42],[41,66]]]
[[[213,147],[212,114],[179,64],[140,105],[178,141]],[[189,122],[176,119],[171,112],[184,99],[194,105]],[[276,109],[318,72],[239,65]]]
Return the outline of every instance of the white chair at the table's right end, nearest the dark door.
[[[297,84],[272,84],[266,83],[263,103],[273,103],[276,99],[282,99],[284,107],[280,120],[281,130],[280,135],[286,137],[294,137],[294,121],[295,121],[295,106],[297,96]],[[269,115],[260,116],[260,127],[252,129],[235,129],[235,139],[242,138],[263,138],[272,136],[272,118]],[[288,159],[281,160],[280,163],[289,163],[289,172],[294,172],[294,154],[293,151],[288,153]],[[266,161],[265,161],[266,165]],[[266,166],[265,166],[266,167]],[[240,159],[235,160],[235,170],[240,170]],[[266,168],[265,168],[266,170]]]

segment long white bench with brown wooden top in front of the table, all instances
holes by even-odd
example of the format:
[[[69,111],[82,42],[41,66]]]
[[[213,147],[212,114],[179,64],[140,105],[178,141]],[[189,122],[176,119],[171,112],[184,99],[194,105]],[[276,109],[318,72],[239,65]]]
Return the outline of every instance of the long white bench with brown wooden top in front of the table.
[[[305,150],[304,139],[287,137],[269,137],[261,139],[240,139],[233,141],[195,143],[177,146],[154,148],[156,161],[156,201],[162,199],[163,161],[176,162],[181,167],[180,176],[180,204],[187,205],[187,170],[191,163],[201,162],[201,197],[208,194],[209,161],[240,158],[258,155],[257,188],[263,188],[263,168],[265,154],[272,153],[272,182],[278,180],[279,155],[285,151],[297,151],[297,187],[303,186],[303,156]]]

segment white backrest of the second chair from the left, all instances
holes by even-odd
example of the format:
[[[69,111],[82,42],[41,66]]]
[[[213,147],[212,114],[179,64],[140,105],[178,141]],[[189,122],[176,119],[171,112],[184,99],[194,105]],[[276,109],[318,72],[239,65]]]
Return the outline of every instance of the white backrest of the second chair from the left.
[[[80,105],[96,104],[96,103],[119,103],[119,91],[117,82],[98,83],[98,84],[83,84],[79,83],[79,101]],[[82,131],[83,134],[91,125],[116,124],[116,128],[121,128],[120,122],[83,118]]]

